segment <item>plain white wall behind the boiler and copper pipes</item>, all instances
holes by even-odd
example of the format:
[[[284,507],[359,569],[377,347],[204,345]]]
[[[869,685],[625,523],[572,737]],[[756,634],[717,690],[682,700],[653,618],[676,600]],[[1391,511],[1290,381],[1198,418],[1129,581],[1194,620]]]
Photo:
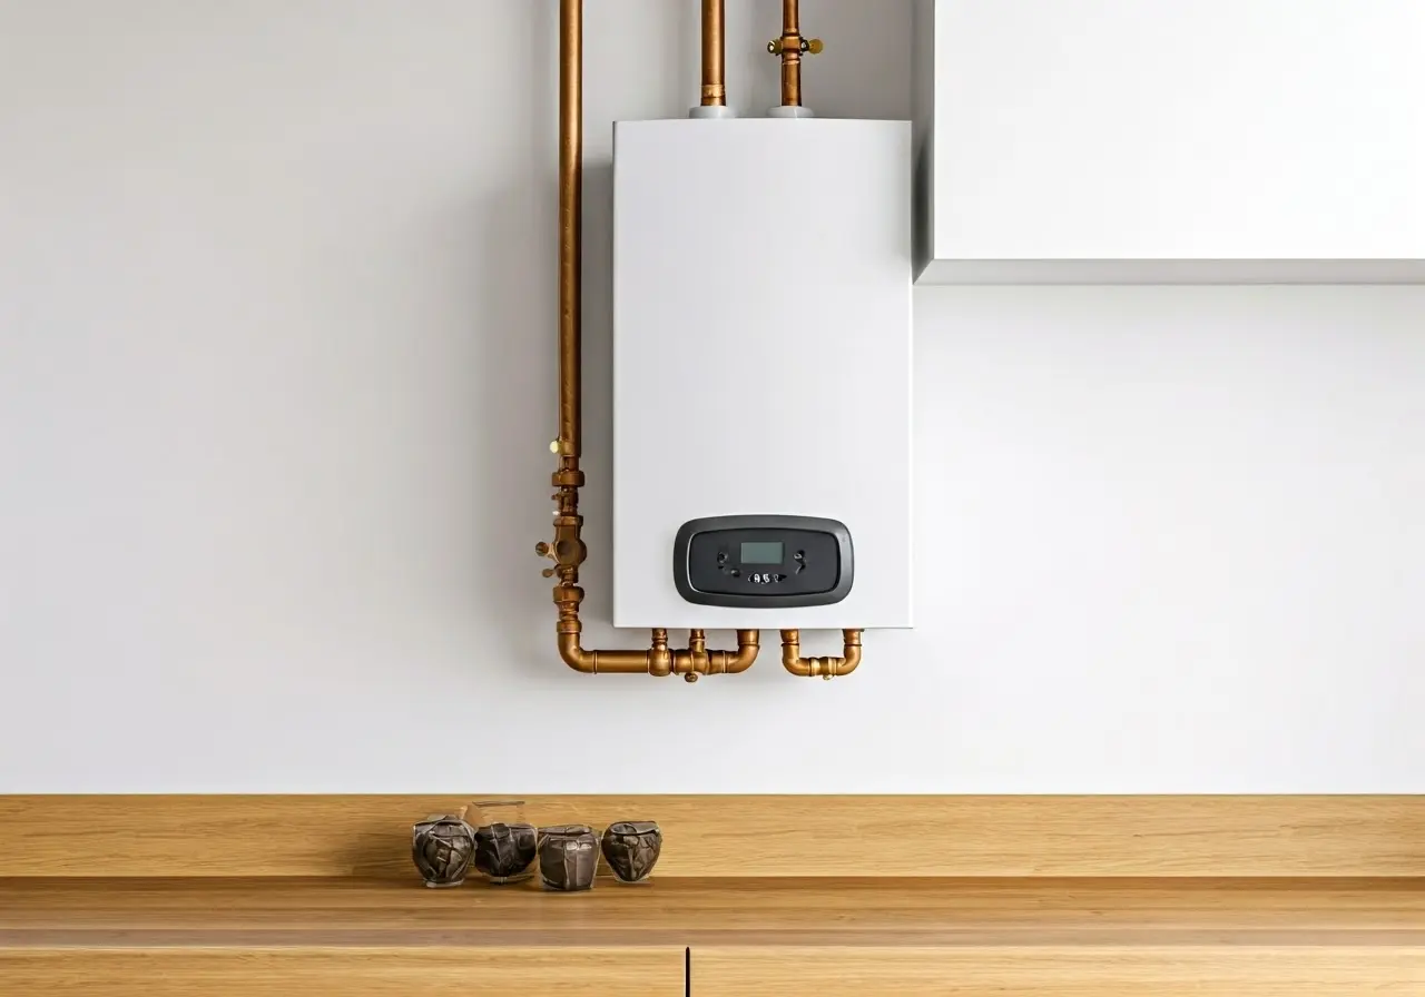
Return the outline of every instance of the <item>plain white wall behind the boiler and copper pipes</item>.
[[[697,4],[589,6],[597,645],[608,121]],[[559,664],[554,7],[0,0],[0,790],[1425,790],[1425,288],[918,291],[921,630]],[[909,115],[909,4],[804,23]]]

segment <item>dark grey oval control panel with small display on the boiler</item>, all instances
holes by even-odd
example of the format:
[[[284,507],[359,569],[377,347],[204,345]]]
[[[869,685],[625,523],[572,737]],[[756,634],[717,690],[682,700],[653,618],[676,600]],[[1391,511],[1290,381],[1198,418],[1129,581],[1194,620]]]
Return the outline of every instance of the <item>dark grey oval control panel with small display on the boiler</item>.
[[[700,605],[829,605],[854,578],[851,531],[811,516],[690,520],[673,543],[673,581]]]

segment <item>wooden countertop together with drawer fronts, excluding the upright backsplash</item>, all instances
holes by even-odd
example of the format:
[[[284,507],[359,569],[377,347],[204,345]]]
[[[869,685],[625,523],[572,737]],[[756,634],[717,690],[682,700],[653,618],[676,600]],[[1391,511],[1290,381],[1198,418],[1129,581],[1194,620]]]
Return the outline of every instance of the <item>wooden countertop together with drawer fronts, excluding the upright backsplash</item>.
[[[1425,994],[1425,880],[0,880],[0,994]]]

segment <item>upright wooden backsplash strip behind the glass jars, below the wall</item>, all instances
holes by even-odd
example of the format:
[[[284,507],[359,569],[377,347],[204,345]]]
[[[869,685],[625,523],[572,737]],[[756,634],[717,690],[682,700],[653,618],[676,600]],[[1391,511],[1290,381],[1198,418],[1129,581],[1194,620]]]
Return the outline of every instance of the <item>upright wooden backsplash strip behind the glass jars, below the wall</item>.
[[[0,876],[410,875],[469,796],[0,796]],[[539,796],[653,819],[658,875],[1425,876],[1425,796]]]

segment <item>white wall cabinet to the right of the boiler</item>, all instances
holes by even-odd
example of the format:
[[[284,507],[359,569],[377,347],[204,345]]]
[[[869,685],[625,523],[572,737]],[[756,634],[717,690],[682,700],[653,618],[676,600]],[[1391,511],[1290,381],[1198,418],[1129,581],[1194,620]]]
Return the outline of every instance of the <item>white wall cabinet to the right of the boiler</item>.
[[[1425,281],[1425,0],[918,0],[918,269]]]

